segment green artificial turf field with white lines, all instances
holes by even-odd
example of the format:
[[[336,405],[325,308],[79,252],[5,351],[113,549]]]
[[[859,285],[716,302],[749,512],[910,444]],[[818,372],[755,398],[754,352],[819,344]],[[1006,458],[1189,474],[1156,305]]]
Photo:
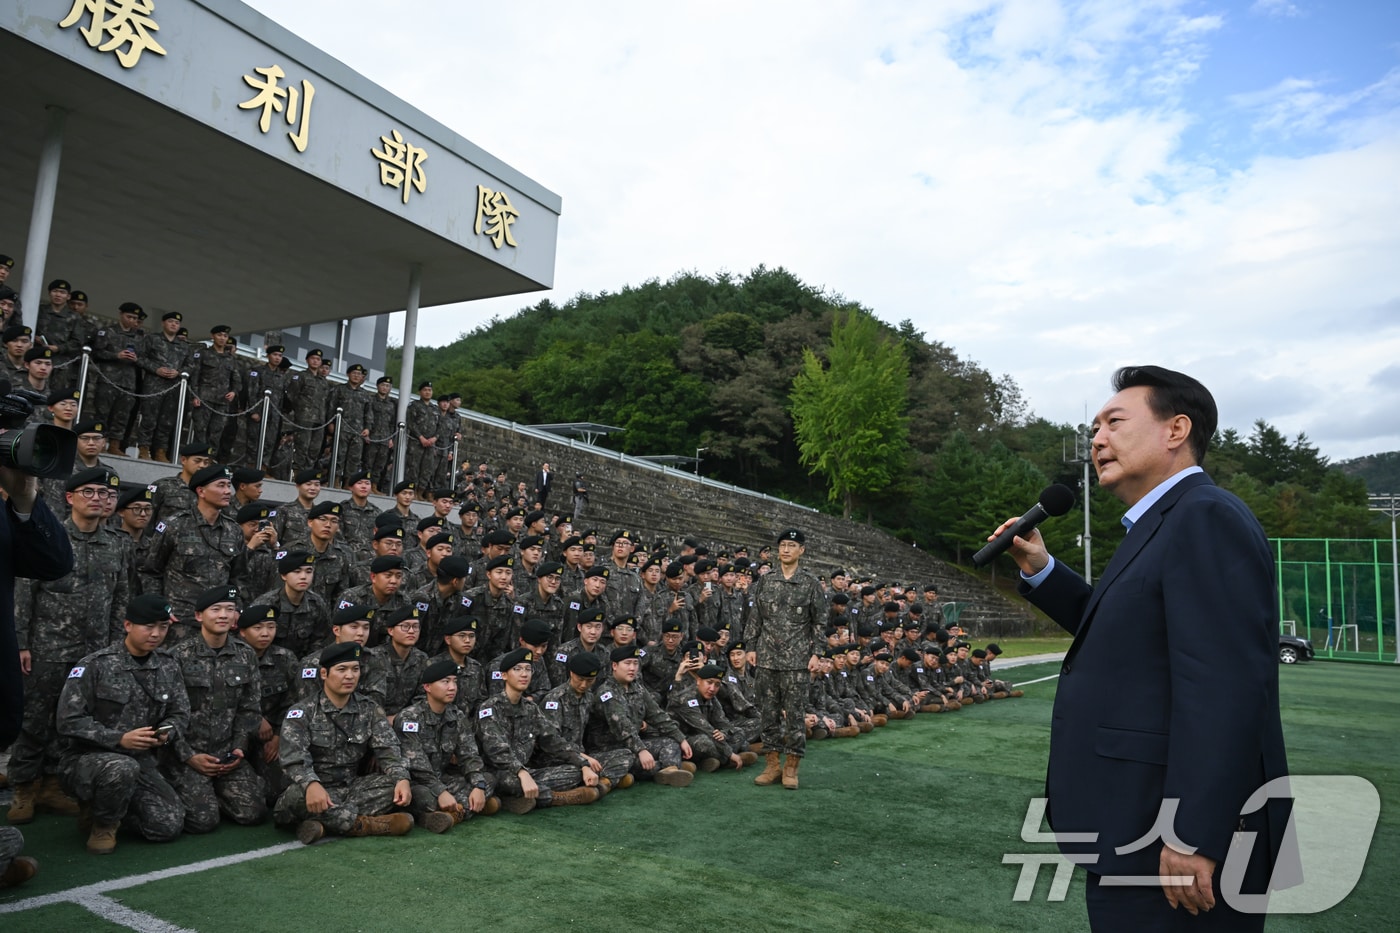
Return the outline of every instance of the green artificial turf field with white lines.
[[[1056,664],[1008,668],[1026,682]],[[1275,916],[1270,930],[1387,929],[1397,908],[1400,834],[1393,804],[1400,752],[1400,671],[1301,664],[1280,671],[1295,773],[1359,773],[1382,796],[1382,824],[1357,891],[1313,916]],[[813,742],[802,787],[755,787],[755,769],[699,775],[689,789],[641,785],[592,807],[501,814],[444,836],[344,839],[109,892],[120,904],[195,930],[1082,930],[1082,876],[1047,902],[1014,904],[1019,866],[1043,853],[1021,841],[1043,787],[1056,681],[1022,699]],[[0,905],[256,849],[290,839],[270,828],[221,828],[157,846],[120,838],[87,856],[69,821],[27,831],[43,873]],[[73,905],[0,915],[7,933],[112,930]]]

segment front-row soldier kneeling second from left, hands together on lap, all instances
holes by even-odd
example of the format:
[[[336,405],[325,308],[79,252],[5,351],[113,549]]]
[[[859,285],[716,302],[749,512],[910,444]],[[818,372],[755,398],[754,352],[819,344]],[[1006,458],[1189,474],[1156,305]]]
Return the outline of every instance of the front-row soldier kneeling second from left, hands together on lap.
[[[238,625],[238,591],[206,590],[195,618],[199,635],[171,650],[185,678],[189,727],[164,772],[185,804],[185,832],[213,832],[220,814],[252,827],[267,818],[267,785],[248,761],[262,724],[262,682],[253,650],[228,637]]]

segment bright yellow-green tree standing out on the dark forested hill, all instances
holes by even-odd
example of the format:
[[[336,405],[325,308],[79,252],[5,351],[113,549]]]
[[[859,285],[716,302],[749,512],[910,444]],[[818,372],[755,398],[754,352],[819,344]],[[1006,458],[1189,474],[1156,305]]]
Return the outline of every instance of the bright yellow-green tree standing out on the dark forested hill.
[[[788,396],[799,459],[826,478],[850,518],[857,497],[883,489],[907,462],[909,361],[860,308],[836,317],[826,364],[811,350]]]

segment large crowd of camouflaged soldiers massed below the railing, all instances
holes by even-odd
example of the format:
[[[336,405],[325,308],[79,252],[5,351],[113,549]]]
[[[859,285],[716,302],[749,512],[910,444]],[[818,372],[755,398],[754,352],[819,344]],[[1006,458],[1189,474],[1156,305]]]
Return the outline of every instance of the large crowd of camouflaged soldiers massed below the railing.
[[[308,468],[272,504],[259,471],[216,452],[192,443],[178,475],[133,488],[80,462],[43,493],[76,563],[17,581],[11,824],[76,815],[94,853],[221,820],[272,817],[307,843],[445,832],[760,752],[755,783],[797,787],[806,740],[1019,695],[937,587],[818,579],[797,530],[752,558],[599,537],[567,513],[483,510],[517,490],[484,464],[465,496],[427,492],[421,518],[413,482],[381,511],[363,469],[347,499]],[[798,605],[806,628],[781,633]]]

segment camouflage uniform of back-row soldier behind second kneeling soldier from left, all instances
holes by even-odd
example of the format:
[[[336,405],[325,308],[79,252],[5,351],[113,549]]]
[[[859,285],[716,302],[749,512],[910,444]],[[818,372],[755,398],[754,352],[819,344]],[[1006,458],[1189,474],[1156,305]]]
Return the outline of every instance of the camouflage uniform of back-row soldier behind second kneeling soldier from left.
[[[195,625],[196,597],[210,587],[228,586],[242,573],[248,553],[244,531],[223,513],[206,521],[197,509],[155,523],[151,531],[154,541],[141,565],[141,591],[162,594],[176,619]],[[172,640],[189,635],[182,628],[171,626]]]

